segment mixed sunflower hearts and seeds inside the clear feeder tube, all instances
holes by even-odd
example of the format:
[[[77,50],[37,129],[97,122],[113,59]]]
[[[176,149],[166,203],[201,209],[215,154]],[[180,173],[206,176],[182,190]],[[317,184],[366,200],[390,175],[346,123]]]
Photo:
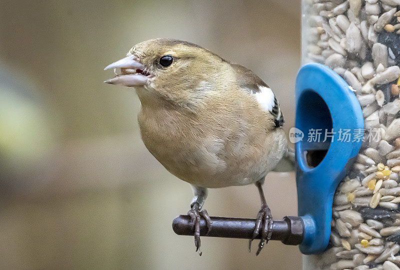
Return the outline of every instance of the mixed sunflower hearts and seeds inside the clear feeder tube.
[[[351,86],[365,125],[317,266],[400,270],[400,0],[303,3],[303,61],[329,66]],[[372,130],[379,136],[367,139]]]

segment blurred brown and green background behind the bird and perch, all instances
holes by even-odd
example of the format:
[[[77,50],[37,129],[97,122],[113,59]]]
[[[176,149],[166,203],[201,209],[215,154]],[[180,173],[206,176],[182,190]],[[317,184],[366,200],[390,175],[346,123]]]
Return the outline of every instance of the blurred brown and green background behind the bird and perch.
[[[189,184],[140,140],[131,88],[105,65],[153,37],[241,63],[294,120],[300,1],[0,1],[0,265],[6,269],[299,269],[296,246],[177,236]],[[274,219],[296,215],[294,173],[264,184]],[[211,189],[211,215],[255,218],[255,186]]]

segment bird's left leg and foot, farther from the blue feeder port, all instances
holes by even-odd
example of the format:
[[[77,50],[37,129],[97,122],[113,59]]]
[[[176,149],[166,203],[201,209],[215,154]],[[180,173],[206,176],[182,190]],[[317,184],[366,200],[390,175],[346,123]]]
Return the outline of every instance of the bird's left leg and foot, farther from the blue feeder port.
[[[192,185],[193,188],[193,199],[191,200],[190,203],[190,210],[187,212],[188,215],[191,217],[191,222],[193,223],[193,228],[194,228],[194,245],[196,246],[196,251],[198,251],[198,254],[201,256],[201,251],[200,251],[200,218],[201,216],[205,219],[205,222],[207,223],[207,234],[211,230],[212,226],[212,221],[211,218],[209,217],[207,211],[205,209],[201,210],[201,207],[205,201],[205,198],[207,197],[207,189],[204,187],[198,187]]]

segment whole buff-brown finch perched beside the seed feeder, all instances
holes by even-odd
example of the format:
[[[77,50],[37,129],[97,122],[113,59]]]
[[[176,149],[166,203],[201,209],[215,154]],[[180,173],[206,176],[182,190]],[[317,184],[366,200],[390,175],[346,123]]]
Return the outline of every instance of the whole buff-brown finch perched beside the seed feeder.
[[[246,67],[178,39],[142,41],[104,70],[116,68],[119,74],[104,82],[135,89],[144,145],[192,187],[188,215],[196,251],[201,255],[200,218],[208,232],[212,229],[203,209],[207,189],[255,184],[261,208],[248,248],[261,233],[258,255],[273,224],[262,187],[265,175],[274,169],[286,171],[278,167],[293,160],[271,88]]]

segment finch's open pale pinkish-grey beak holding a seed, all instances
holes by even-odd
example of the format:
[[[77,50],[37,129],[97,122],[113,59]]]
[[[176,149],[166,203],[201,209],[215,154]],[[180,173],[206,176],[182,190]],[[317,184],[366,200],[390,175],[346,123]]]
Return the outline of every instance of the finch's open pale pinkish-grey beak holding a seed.
[[[116,62],[113,62],[107,65],[106,69],[114,69],[120,68],[120,74],[104,80],[106,83],[110,84],[121,84],[124,86],[145,86],[148,85],[149,79],[152,74],[145,72],[145,67],[141,64],[135,55],[128,55],[125,58],[122,58]],[[115,73],[116,74],[116,73]]]

